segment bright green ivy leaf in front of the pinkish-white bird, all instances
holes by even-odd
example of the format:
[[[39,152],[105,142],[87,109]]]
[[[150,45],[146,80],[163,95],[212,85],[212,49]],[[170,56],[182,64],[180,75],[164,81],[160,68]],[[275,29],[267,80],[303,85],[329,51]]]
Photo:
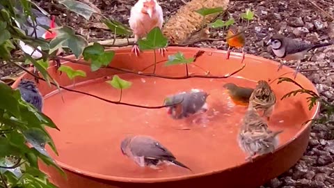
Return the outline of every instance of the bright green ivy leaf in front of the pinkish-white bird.
[[[154,27],[146,36],[146,39],[139,39],[137,41],[138,47],[141,50],[145,49],[159,49],[167,47],[168,40],[161,32],[159,27]]]

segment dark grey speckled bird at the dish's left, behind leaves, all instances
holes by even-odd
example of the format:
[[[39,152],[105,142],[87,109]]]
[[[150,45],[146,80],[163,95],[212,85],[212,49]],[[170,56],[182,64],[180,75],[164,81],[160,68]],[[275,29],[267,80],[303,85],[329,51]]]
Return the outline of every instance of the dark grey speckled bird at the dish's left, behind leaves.
[[[43,97],[33,81],[21,79],[17,88],[24,101],[32,104],[38,111],[42,111]]]

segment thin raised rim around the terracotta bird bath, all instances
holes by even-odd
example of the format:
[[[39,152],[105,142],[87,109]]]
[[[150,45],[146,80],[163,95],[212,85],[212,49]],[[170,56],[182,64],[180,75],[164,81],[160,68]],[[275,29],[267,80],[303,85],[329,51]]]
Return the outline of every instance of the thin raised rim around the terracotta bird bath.
[[[132,53],[131,49],[132,49],[131,47],[122,47],[122,48],[115,48],[115,49],[106,49],[106,51],[114,50],[116,52],[116,54],[130,54],[130,53]],[[227,52],[227,51],[221,50],[221,49],[210,49],[210,48],[202,48],[202,47],[168,47],[167,49],[169,49],[171,52],[177,52],[177,51],[184,52],[187,49],[190,49],[191,51],[205,51],[205,52],[209,52],[210,54],[226,54],[226,52]],[[143,54],[145,54],[145,52],[141,52],[141,55],[143,55]],[[159,55],[159,54],[157,54],[157,55]],[[241,57],[242,57],[241,53],[237,53],[237,52],[231,52],[230,53],[230,58],[241,59]],[[72,60],[76,59],[74,55],[65,56],[65,58],[72,59]],[[254,56],[254,55],[251,55],[251,54],[245,54],[245,59],[246,58],[250,58],[250,59],[258,61],[260,63],[265,62],[265,63],[271,63],[271,64],[277,64],[278,65],[278,63],[276,61],[273,61],[273,60],[270,60],[270,59],[267,59],[267,58],[263,58],[263,57],[260,57],[260,56]],[[70,63],[70,61],[63,61],[61,63],[66,64],[66,63]],[[240,65],[241,65],[241,63],[240,63]],[[283,68],[283,69],[285,69],[285,70],[292,70],[292,68],[289,68],[285,65],[284,65],[284,67],[285,68]],[[49,67],[49,68],[51,68],[51,67]],[[32,70],[32,69],[33,68],[29,68],[29,70]],[[28,75],[28,73],[24,73],[23,75],[18,77],[17,80],[12,85],[12,87],[17,88],[17,86],[19,84],[19,80],[24,78],[26,75]],[[308,78],[306,78],[304,75],[301,75],[300,73],[299,73],[298,76],[301,77],[301,79],[303,79],[303,80],[310,81]],[[232,77],[235,77],[235,76],[232,76]],[[247,78],[244,78],[244,79],[247,79]],[[315,87],[314,87],[314,91],[315,91],[315,93],[317,93],[319,95],[319,93],[318,93],[318,91]],[[312,119],[317,117],[317,115],[319,113],[319,109],[320,109],[320,104],[319,104],[319,102],[317,102],[316,107],[315,107],[315,112],[312,115]],[[292,141],[294,141],[303,132],[305,132],[305,130],[308,130],[308,128],[310,127],[310,124],[311,124],[311,121],[309,121],[308,123],[303,125],[303,127],[301,127],[301,129],[297,132],[297,134],[295,134],[294,137],[289,139],[289,141],[285,142],[285,144],[283,144],[281,146],[278,146],[278,148],[276,148],[275,152],[285,148],[290,143],[292,143]],[[266,155],[258,156],[256,158],[254,158],[253,162],[255,162],[258,159],[261,159],[262,157],[265,157],[265,156]],[[199,178],[199,177],[202,177],[202,176],[214,175],[214,174],[217,174],[217,173],[221,173],[223,171],[230,171],[231,169],[239,168],[240,166],[246,166],[247,164],[251,163],[251,162],[246,162],[245,161],[245,162],[243,162],[243,163],[241,163],[237,166],[233,166],[233,167],[218,170],[218,171],[210,171],[210,172],[203,172],[203,173],[196,173],[196,174],[189,174],[189,175],[179,175],[179,176],[168,177],[168,178],[126,178],[126,177],[122,177],[122,176],[102,175],[102,174],[99,174],[99,173],[93,173],[93,172],[89,172],[89,171],[82,171],[80,169],[75,168],[74,166],[64,164],[63,162],[58,162],[56,159],[54,159],[54,160],[56,161],[58,166],[61,166],[61,168],[66,169],[67,171],[71,171],[73,173],[77,173],[79,175],[85,175],[85,176],[88,176],[88,177],[91,177],[91,178],[97,178],[97,179],[102,179],[102,180],[111,180],[111,181],[116,181],[116,182],[133,182],[133,183],[136,183],[136,182],[137,183],[171,182],[171,181],[178,181],[178,180],[189,180],[189,179],[192,179],[192,178]]]

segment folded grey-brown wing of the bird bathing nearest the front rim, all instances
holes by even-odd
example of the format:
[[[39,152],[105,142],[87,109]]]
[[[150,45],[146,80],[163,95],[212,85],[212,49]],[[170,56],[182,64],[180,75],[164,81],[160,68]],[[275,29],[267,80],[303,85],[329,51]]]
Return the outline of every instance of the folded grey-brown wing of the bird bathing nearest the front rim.
[[[132,154],[149,159],[175,159],[174,155],[164,146],[149,136],[135,136],[131,143]]]

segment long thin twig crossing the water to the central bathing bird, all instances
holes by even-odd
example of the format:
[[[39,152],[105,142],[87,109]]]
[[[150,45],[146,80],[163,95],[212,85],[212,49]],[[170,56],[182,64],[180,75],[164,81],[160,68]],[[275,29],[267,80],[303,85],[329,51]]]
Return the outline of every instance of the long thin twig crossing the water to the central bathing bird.
[[[13,65],[17,66],[18,68],[24,70],[24,72],[28,73],[29,75],[37,78],[37,79],[40,79],[42,81],[46,81],[44,78],[42,77],[39,77],[38,75],[35,75],[33,74],[32,72],[30,72],[29,70],[26,70],[26,68],[22,67],[21,65],[18,65],[16,63],[13,63]],[[57,84],[55,84],[54,82],[51,82],[50,81],[50,84],[54,85],[54,86],[57,86]],[[80,93],[80,94],[83,94],[83,95],[88,95],[90,97],[95,97],[99,100],[103,100],[104,102],[109,102],[109,103],[112,103],[112,104],[122,104],[122,105],[126,105],[126,106],[130,106],[130,107],[138,107],[138,108],[143,108],[143,109],[162,109],[164,107],[171,107],[175,104],[179,104],[180,102],[183,101],[180,101],[180,102],[177,102],[175,104],[170,104],[170,105],[163,105],[163,106],[156,106],[156,107],[148,107],[148,106],[143,106],[143,105],[139,105],[139,104],[129,104],[129,103],[126,103],[126,102],[117,102],[117,101],[112,101],[112,100],[107,100],[107,99],[104,99],[102,97],[99,97],[97,95],[93,95],[93,94],[90,94],[90,93],[86,93],[86,92],[83,92],[83,91],[77,91],[77,90],[73,90],[73,89],[70,89],[70,88],[66,88],[64,86],[59,86],[59,88],[62,88],[63,90],[65,91],[70,91],[70,92],[74,92],[74,93]]]

